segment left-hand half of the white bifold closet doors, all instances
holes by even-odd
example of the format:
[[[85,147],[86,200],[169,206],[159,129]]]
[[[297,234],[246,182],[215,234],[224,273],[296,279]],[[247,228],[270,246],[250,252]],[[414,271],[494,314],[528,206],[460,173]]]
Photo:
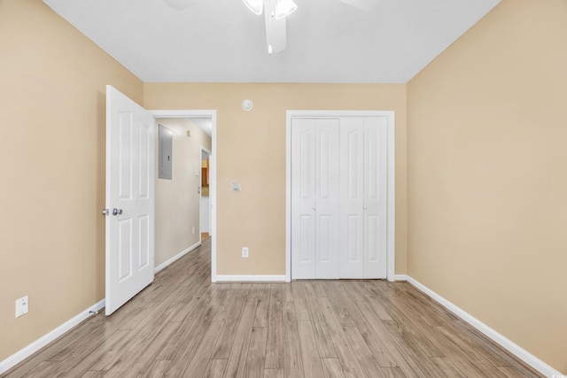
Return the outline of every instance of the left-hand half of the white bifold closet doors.
[[[291,120],[294,279],[339,276],[338,119]]]

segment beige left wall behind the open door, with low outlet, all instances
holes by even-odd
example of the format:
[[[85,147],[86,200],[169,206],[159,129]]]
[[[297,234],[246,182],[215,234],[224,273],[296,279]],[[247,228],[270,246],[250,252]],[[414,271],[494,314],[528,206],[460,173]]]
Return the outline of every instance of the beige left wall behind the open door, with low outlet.
[[[0,57],[4,360],[105,297],[105,84],[143,84],[38,0],[0,1]]]

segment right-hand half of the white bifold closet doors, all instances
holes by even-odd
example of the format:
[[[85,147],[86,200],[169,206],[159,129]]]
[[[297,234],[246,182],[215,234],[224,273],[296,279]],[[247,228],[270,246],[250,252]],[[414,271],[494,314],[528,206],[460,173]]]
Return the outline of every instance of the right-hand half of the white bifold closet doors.
[[[340,278],[386,278],[387,120],[341,118]]]

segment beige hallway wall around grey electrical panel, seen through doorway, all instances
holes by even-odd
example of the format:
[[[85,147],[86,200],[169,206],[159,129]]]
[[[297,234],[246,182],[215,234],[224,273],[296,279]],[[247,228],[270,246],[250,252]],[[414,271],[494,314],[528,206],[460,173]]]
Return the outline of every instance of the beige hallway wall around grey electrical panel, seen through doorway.
[[[211,150],[211,137],[190,120],[159,119],[157,122],[173,132],[173,173],[172,180],[157,178],[156,163],[155,266],[174,258],[200,240],[201,197],[198,188],[201,186],[201,147]],[[187,131],[190,131],[190,137]]]

